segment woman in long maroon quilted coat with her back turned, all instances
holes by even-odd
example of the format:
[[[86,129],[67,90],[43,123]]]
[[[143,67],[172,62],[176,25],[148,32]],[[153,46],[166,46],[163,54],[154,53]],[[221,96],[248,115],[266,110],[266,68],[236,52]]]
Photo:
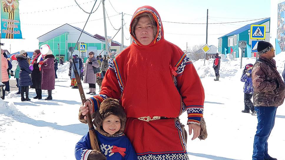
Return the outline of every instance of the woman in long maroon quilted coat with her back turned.
[[[52,50],[44,57],[42,64],[42,89],[47,90],[49,96],[44,100],[52,99],[52,89],[54,89],[55,75],[54,75],[54,55]]]

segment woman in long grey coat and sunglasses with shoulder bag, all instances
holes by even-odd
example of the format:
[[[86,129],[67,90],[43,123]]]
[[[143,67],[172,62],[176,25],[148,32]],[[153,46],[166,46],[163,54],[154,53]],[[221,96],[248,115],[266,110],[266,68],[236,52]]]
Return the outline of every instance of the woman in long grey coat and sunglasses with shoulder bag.
[[[89,52],[89,57],[85,63],[84,69],[84,80],[83,83],[89,84],[89,92],[86,94],[94,95],[96,94],[96,74],[94,73],[94,67],[98,68],[99,63],[94,56],[94,52]]]

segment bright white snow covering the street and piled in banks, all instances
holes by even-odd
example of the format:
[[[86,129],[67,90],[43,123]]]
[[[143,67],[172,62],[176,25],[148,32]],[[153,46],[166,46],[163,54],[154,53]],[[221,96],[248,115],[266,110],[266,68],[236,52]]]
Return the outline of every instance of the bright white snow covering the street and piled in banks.
[[[285,53],[274,59],[281,73]],[[248,63],[254,64],[255,58],[243,58],[242,61],[244,67]],[[241,113],[244,104],[240,62],[241,59],[222,59],[220,81],[213,81],[213,59],[206,61],[205,65],[204,60],[194,62],[206,94],[204,118],[208,138],[191,141],[192,136],[188,136],[190,160],[251,159],[257,119],[251,114]],[[16,91],[6,96],[4,102],[0,99],[0,159],[75,159],[74,146],[88,128],[77,119],[81,99],[78,89],[69,87],[68,67],[68,62],[59,66],[53,100],[21,102]],[[83,87],[85,92],[89,91],[88,84]],[[35,96],[34,89],[29,92],[30,98]],[[44,91],[43,98],[46,96],[47,91]],[[277,110],[275,126],[268,140],[269,154],[279,160],[285,160],[284,107],[282,105]],[[187,114],[182,114],[180,119],[185,124]]]

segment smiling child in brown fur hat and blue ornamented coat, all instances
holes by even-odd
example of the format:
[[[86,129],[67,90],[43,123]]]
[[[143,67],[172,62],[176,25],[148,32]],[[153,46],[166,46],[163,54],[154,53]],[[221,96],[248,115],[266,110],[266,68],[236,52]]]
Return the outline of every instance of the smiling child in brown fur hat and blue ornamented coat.
[[[79,115],[81,116],[81,115]],[[107,98],[92,114],[101,152],[91,150],[89,132],[75,146],[77,160],[136,160],[136,152],[123,133],[126,114],[117,99]],[[86,122],[87,123],[87,122]]]

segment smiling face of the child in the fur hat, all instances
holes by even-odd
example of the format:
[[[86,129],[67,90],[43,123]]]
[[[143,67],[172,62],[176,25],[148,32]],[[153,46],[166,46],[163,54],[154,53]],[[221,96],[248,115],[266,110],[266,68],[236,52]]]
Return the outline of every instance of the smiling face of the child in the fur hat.
[[[118,116],[110,115],[103,120],[103,129],[105,132],[113,135],[121,128],[121,119]]]

